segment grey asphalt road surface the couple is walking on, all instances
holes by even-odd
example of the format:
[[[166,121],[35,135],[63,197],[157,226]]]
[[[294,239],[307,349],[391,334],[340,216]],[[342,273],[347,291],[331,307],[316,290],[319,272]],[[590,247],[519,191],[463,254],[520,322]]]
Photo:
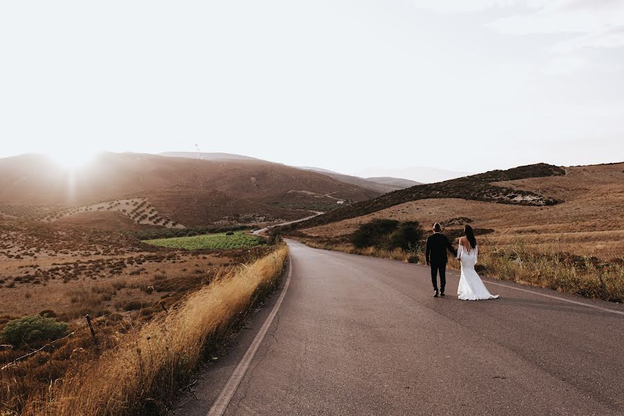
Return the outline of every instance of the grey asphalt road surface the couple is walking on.
[[[288,245],[225,415],[624,415],[622,305],[489,279],[499,300],[460,301],[456,273],[433,298],[422,266]],[[275,298],[177,414],[207,415]]]

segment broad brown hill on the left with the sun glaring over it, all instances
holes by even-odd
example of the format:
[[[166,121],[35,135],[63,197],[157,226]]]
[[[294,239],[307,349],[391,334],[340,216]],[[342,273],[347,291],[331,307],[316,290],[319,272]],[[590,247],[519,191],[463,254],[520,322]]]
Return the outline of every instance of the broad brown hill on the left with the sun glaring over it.
[[[241,218],[295,219],[306,215],[300,209],[332,209],[336,198],[361,201],[376,196],[379,192],[320,173],[253,159],[102,153],[75,171],[42,155],[0,159],[0,212],[18,218],[26,211],[43,218],[46,211],[146,198],[155,211],[145,215],[162,217],[162,223],[210,225]],[[106,209],[114,209],[115,203],[110,205]],[[78,211],[85,210],[72,212]]]

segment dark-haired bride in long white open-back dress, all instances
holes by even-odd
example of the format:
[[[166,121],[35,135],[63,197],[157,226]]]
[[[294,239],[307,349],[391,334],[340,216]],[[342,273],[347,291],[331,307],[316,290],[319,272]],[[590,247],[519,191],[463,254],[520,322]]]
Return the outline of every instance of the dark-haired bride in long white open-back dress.
[[[485,284],[474,270],[479,252],[474,232],[470,225],[464,228],[464,237],[460,237],[457,258],[462,263],[462,276],[457,288],[457,297],[460,300],[496,299],[499,295],[492,295],[487,291]]]

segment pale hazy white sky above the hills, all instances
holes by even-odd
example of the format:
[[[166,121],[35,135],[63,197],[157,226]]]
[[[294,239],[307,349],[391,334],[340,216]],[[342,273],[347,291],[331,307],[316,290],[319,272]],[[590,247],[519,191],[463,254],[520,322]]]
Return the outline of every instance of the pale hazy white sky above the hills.
[[[0,157],[624,160],[624,0],[0,2]]]

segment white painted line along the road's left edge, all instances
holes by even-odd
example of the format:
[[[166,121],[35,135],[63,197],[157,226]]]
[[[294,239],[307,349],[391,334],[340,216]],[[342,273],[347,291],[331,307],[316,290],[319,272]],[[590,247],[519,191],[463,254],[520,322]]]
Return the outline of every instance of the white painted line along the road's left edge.
[[[256,355],[260,344],[264,340],[264,336],[266,336],[266,333],[271,326],[275,315],[277,315],[277,311],[279,310],[281,301],[284,300],[284,296],[286,296],[286,291],[288,291],[288,284],[291,283],[292,275],[293,259],[288,256],[288,277],[286,278],[284,288],[281,290],[279,299],[277,300],[277,302],[275,302],[271,313],[269,313],[269,315],[266,317],[264,324],[262,324],[260,331],[256,334],[254,340],[247,349],[247,352],[245,352],[245,355],[243,356],[243,358],[241,358],[239,364],[236,365],[236,368],[234,369],[234,372],[232,372],[232,375],[229,376],[229,379],[227,379],[227,383],[225,383],[223,390],[221,390],[219,396],[214,401],[214,404],[212,404],[209,412],[207,413],[207,416],[221,416],[223,415],[223,413],[225,413],[225,409],[227,409],[227,406],[229,406],[229,402],[232,400],[232,397],[234,397],[234,393],[236,393],[236,390],[239,388],[241,381],[243,381],[243,377],[245,376],[245,373],[247,373],[249,365],[254,359],[254,356]]]

